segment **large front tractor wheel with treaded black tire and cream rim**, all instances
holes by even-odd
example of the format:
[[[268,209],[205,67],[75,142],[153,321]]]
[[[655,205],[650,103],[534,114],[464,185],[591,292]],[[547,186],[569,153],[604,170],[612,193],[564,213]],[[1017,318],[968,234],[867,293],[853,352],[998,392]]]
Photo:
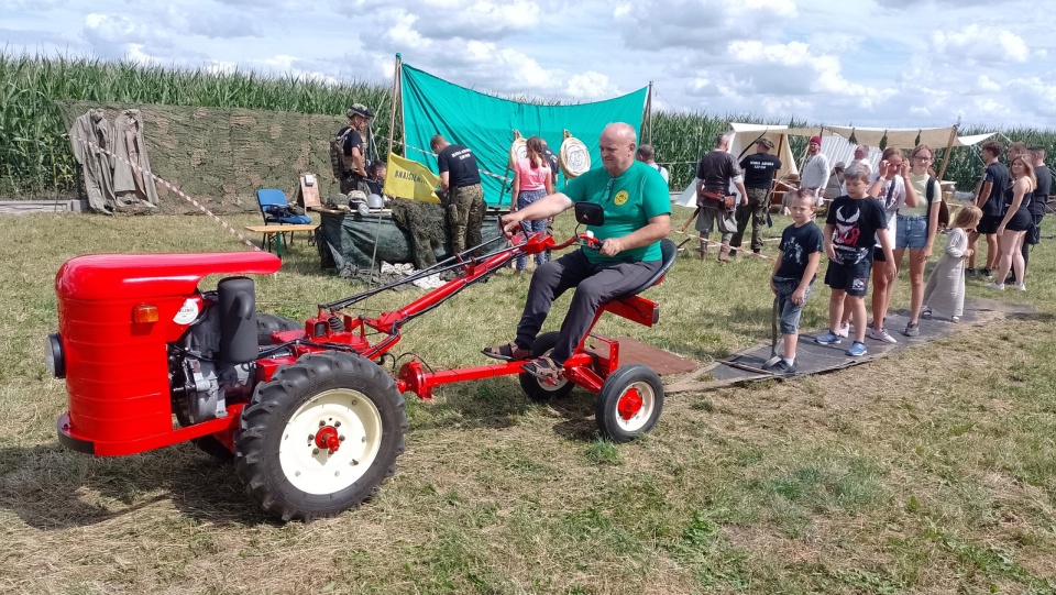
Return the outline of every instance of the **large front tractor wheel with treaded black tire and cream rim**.
[[[367,403],[360,403],[360,399]],[[340,471],[350,469],[343,466],[345,463],[337,455],[331,459],[326,452],[321,453],[322,456],[312,453],[307,430],[302,432],[305,437],[296,433],[304,427],[298,426],[298,421],[311,422],[316,415],[331,415],[326,411],[332,412],[332,409],[317,412],[312,409],[316,404],[322,404],[324,408],[336,400],[348,409],[354,406],[373,414],[374,417],[363,417],[356,411],[360,417],[351,419],[353,416],[350,416],[346,428],[350,432],[356,431],[352,421],[364,427],[376,423],[372,437],[376,451],[365,454],[367,459],[363,461],[348,460],[355,469],[353,475],[359,472],[359,465],[364,469],[350,484],[332,492],[307,492],[294,482],[312,482],[311,477],[316,475],[322,482],[331,477],[330,471],[336,471],[333,476],[337,476]],[[396,459],[404,452],[407,427],[403,395],[393,377],[373,362],[334,351],[302,355],[296,363],[279,367],[270,382],[257,385],[252,401],[242,410],[234,439],[235,471],[250,496],[270,515],[284,521],[297,519],[305,522],[333,517],[358,507],[374,495],[382,481],[396,473]],[[366,436],[370,433],[370,429],[364,430],[363,444],[371,443]],[[343,442],[341,448],[351,449],[345,450],[344,455],[355,453],[359,443],[355,440]],[[284,469],[284,460],[306,458],[304,453],[310,453],[307,455],[311,461],[309,466],[297,467],[294,463],[290,469]],[[307,480],[301,476],[301,470]],[[287,473],[290,471],[293,474]]]

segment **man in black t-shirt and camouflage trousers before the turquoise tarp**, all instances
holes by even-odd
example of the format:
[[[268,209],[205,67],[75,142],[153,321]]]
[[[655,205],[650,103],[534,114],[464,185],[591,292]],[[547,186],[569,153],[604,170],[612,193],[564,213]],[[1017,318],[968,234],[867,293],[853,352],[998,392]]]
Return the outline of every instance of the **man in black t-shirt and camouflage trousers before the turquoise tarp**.
[[[459,254],[466,246],[481,243],[481,227],[484,224],[484,189],[481,187],[481,170],[476,157],[469,148],[451,144],[437,134],[429,146],[437,153],[440,169],[440,189],[446,195],[442,202],[448,211],[448,239],[451,253]]]

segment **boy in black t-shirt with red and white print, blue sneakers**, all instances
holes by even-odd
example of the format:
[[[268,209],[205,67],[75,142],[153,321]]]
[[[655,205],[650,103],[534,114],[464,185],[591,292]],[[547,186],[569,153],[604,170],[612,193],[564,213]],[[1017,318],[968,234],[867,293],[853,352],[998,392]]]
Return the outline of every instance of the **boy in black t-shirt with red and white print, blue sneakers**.
[[[815,343],[835,345],[839,335],[833,329],[839,327],[844,315],[844,297],[850,298],[853,320],[855,321],[855,342],[847,355],[858,357],[866,354],[866,301],[869,290],[869,274],[872,271],[872,247],[876,239],[884,256],[884,275],[893,279],[895,275],[894,256],[891,254],[891,239],[877,230],[887,229],[888,220],[883,206],[866,194],[869,172],[851,167],[844,175],[847,195],[833,201],[825,220],[825,253],[828,254],[828,271],[825,272],[825,285],[833,289],[828,298],[828,332],[814,339]]]

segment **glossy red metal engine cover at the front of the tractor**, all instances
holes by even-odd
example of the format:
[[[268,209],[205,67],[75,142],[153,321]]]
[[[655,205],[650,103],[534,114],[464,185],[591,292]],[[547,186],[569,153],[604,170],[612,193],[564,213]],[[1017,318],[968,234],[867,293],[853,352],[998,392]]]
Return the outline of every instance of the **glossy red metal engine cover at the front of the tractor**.
[[[165,345],[200,310],[198,283],[207,275],[271,274],[280,265],[266,252],[94,254],[64,264],[55,276],[69,393],[69,414],[59,420],[64,443],[117,455],[189,438],[173,429]],[[139,305],[156,306],[158,321],[133,322]],[[233,420],[216,421],[195,433]]]

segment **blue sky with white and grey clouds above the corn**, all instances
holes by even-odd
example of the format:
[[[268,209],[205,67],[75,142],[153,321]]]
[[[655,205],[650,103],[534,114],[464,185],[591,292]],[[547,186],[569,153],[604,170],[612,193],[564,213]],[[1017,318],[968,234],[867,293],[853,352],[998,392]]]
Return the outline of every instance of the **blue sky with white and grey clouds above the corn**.
[[[1000,7],[1000,8],[996,8]],[[1052,8],[1019,0],[0,0],[8,53],[873,126],[1056,129]]]

